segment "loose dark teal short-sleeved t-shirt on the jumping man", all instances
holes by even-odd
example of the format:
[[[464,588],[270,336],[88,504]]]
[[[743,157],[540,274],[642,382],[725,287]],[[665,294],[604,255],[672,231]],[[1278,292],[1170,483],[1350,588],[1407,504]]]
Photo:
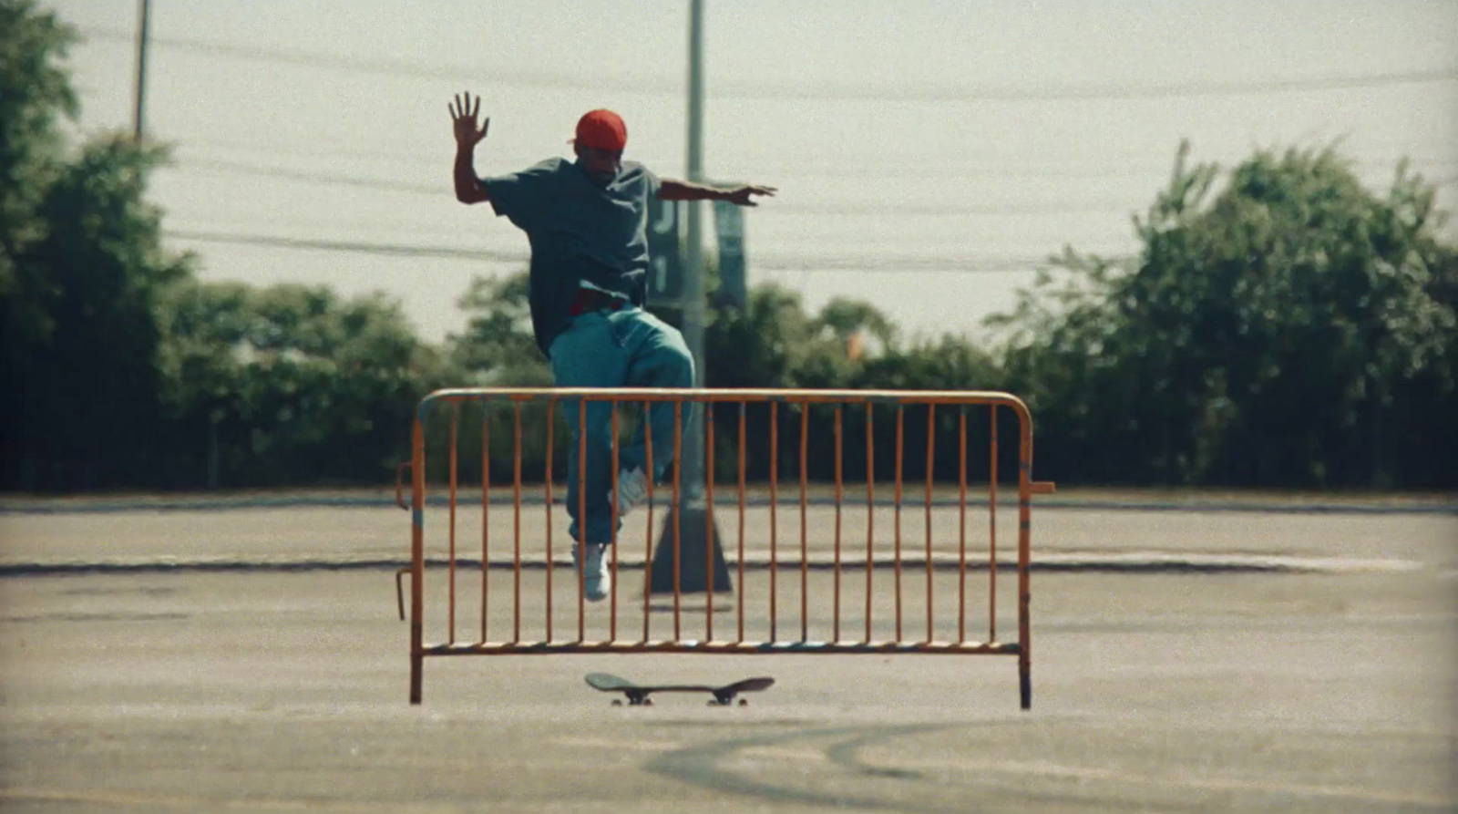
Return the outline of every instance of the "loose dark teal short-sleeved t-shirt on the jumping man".
[[[496,214],[526,232],[531,244],[532,331],[542,353],[566,328],[582,280],[643,305],[647,204],[658,197],[659,179],[642,163],[623,162],[607,185],[561,158],[481,184]]]

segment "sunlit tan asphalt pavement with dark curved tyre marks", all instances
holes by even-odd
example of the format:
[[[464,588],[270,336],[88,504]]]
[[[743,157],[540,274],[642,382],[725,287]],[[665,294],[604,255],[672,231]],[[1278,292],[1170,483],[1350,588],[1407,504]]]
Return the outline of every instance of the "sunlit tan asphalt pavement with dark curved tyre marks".
[[[448,546],[439,511],[427,518],[436,554]],[[544,513],[523,532],[542,556],[544,528],[531,524]],[[923,521],[903,516],[904,543],[921,546]],[[458,534],[478,546],[471,522]],[[745,597],[714,602],[729,630],[770,621],[757,522]],[[943,524],[933,516],[937,554],[955,547]],[[833,556],[831,525],[812,516],[806,551]],[[723,527],[733,559],[736,521]],[[795,562],[798,519],[779,531]],[[862,557],[865,531],[847,531]],[[1028,712],[1007,656],[793,654],[437,658],[411,706],[392,573],[407,541],[408,515],[375,506],[0,515],[0,810],[1458,808],[1452,513],[1035,511],[1034,560],[1047,566],[1032,579]],[[1060,567],[1056,554],[1070,559]],[[1188,566],[1201,556],[1216,559]],[[1231,562],[1248,567],[1215,567]],[[426,597],[436,637],[443,573],[432,569]],[[572,572],[553,573],[555,636],[570,637]],[[780,575],[780,636],[793,637],[802,582],[793,566]],[[493,585],[510,576],[488,573]],[[544,576],[528,572],[523,594],[537,624]],[[873,578],[881,630],[894,573],[882,565]],[[959,621],[954,578],[939,567],[933,579],[937,637]],[[628,567],[620,579],[631,630],[642,579]],[[833,579],[816,569],[803,582],[819,632]],[[986,579],[970,588],[974,630],[987,621]],[[921,636],[921,572],[903,600],[907,635]],[[847,604],[854,629],[859,605]],[[703,600],[684,605],[685,624],[701,624]],[[497,611],[493,637],[507,619]],[[588,624],[601,630],[604,613],[585,608]],[[671,604],[647,616],[666,629]],[[999,616],[1007,635],[1012,617]],[[621,708],[583,683],[590,671],[777,683],[745,708],[687,694]]]

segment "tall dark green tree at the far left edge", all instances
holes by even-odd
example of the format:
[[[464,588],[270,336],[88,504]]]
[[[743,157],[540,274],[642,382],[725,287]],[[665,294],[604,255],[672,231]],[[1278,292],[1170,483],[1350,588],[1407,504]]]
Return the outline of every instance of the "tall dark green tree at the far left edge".
[[[74,32],[34,3],[0,1],[0,481],[117,486],[144,471],[160,433],[157,303],[188,260],[160,249],[144,200],[165,152],[102,137],[74,153],[57,63]]]

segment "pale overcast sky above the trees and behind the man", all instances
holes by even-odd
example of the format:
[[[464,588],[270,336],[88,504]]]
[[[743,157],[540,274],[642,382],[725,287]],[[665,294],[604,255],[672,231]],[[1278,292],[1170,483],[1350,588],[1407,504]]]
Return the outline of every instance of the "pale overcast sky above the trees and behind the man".
[[[82,130],[130,128],[137,1],[42,4],[86,36]],[[1185,137],[1226,166],[1337,143],[1373,190],[1406,156],[1454,209],[1451,0],[706,7],[706,172],[780,187],[748,217],[751,282],[812,308],[853,296],[907,331],[975,333],[1064,244],[1133,251]],[[628,158],[682,177],[687,26],[688,0],[152,0],[171,245],[207,279],[385,290],[437,340],[472,276],[526,257],[451,195],[451,96],[486,98],[483,174],[563,155],[608,106]]]

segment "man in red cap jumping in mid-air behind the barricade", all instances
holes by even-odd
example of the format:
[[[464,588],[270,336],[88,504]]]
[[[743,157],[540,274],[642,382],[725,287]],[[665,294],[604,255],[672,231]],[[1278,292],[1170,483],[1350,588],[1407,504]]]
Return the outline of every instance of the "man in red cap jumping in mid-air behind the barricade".
[[[659,179],[637,162],[624,162],[627,127],[612,111],[595,109],[577,121],[576,162],[547,159],[510,175],[480,178],[475,146],[491,124],[481,120],[481,98],[469,93],[448,105],[455,130],[455,193],[465,204],[490,201],[526,232],[531,244],[532,333],[551,360],[558,387],[666,387],[694,385],[694,360],[684,337],[643,309],[647,299],[647,238],[644,225],[650,200],[732,201],[755,206],[755,195],[773,195],[773,187],[742,185],[720,190],[685,181]],[[604,600],[612,581],[605,551],[612,541],[611,451],[612,407],[589,403],[579,425],[579,404],[564,404],[573,433],[569,457],[569,534],[585,543],[583,592]],[[688,420],[688,414],[684,414]],[[617,511],[627,513],[647,497],[647,478],[656,483],[674,458],[674,408],[658,404],[644,417],[652,425],[653,461],[647,461],[643,425],[618,455]],[[585,516],[577,516],[577,438],[586,436]],[[577,546],[573,546],[573,559]]]

